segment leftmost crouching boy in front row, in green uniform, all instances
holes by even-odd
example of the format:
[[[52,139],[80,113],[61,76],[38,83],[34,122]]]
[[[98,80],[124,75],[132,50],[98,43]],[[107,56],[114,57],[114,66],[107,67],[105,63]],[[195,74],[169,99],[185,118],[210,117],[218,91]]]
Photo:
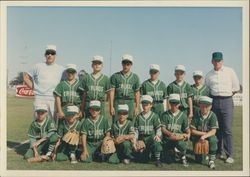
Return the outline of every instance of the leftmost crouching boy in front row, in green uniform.
[[[54,121],[48,116],[48,107],[45,104],[37,105],[37,118],[31,123],[28,131],[30,148],[24,158],[42,157],[49,160],[58,140]]]

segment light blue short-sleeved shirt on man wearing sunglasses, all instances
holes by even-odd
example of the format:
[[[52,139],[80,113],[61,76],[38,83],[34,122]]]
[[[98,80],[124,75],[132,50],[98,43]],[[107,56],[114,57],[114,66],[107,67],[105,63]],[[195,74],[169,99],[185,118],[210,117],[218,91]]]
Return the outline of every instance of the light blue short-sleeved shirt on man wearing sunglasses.
[[[53,63],[38,63],[28,72],[34,83],[36,98],[54,100],[53,91],[62,79],[64,67]]]

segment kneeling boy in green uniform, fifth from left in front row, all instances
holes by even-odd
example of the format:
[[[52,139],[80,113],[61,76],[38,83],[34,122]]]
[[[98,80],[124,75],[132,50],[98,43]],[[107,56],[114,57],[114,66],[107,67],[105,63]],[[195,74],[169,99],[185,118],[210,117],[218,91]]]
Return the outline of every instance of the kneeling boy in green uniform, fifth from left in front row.
[[[158,114],[151,111],[153,98],[150,95],[142,95],[141,103],[143,111],[136,117],[134,127],[136,139],[143,140],[146,149],[142,153],[136,153],[136,158],[138,161],[148,162],[152,153],[155,165],[161,167],[161,122]]]

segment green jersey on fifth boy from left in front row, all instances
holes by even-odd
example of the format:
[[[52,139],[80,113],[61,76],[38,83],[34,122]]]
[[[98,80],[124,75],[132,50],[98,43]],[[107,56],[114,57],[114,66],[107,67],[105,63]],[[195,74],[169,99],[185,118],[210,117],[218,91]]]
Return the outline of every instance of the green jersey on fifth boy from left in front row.
[[[155,136],[156,130],[161,127],[161,122],[158,114],[150,112],[148,118],[145,118],[142,113],[140,113],[135,120],[134,127],[138,130],[139,139],[147,136]]]

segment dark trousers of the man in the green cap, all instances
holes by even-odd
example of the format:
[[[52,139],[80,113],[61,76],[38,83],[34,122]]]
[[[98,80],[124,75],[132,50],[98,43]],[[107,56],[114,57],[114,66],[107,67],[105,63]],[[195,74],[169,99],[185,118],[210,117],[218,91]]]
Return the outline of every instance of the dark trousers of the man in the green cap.
[[[216,114],[219,129],[216,132],[218,138],[217,154],[222,154],[225,151],[227,157],[233,157],[233,99],[227,98],[213,98],[212,111]]]

